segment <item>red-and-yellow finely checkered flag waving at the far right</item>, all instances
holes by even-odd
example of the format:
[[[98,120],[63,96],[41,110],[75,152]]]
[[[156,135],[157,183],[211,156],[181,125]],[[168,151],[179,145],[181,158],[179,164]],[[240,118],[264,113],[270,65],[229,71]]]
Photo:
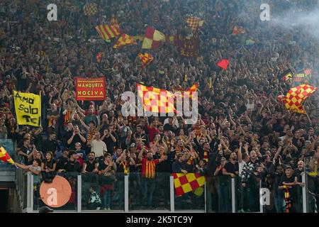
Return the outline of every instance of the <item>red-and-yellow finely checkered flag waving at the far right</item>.
[[[316,90],[316,87],[312,87],[308,84],[301,84],[298,87],[291,88],[286,96],[281,96],[279,99],[281,99],[281,101],[285,104],[286,109],[289,111],[306,114],[306,111],[302,106],[303,102]]]

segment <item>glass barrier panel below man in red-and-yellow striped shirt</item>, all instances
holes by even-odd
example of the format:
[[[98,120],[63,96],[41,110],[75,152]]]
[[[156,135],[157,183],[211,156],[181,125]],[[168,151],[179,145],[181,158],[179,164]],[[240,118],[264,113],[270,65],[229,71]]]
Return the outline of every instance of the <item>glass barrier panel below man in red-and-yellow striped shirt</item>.
[[[154,179],[146,179],[140,172],[130,172],[128,177],[129,210],[168,210],[169,172],[157,172]]]

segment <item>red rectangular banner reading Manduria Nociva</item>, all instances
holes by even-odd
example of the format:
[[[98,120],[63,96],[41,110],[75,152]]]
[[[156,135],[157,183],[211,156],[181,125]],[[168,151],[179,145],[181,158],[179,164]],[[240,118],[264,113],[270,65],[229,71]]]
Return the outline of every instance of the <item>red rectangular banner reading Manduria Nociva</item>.
[[[77,100],[105,100],[105,77],[95,79],[76,77],[75,97]]]

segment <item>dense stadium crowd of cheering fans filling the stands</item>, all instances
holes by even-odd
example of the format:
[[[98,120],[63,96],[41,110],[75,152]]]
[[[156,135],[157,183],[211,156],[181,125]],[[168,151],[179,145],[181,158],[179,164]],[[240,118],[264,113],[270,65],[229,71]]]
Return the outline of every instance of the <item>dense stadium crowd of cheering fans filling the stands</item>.
[[[21,167],[43,178],[64,172],[103,176],[99,188],[89,187],[91,209],[112,208],[115,172],[141,174],[137,180],[147,207],[154,206],[157,173],[197,172],[207,176],[215,211],[231,211],[228,189],[235,178],[240,211],[259,209],[262,184],[272,189],[272,211],[286,211],[284,192],[289,189],[290,211],[301,212],[301,176],[311,166],[305,160],[317,163],[319,158],[318,92],[304,105],[308,116],[289,112],[276,96],[292,86],[279,78],[289,68],[312,68],[309,83],[319,85],[319,45],[308,28],[283,29],[260,21],[262,1],[94,2],[99,10],[84,16],[84,1],[57,1],[57,21],[46,19],[49,1],[0,3],[0,138],[16,141]],[[272,15],[283,17],[318,7],[310,0],[268,2]],[[128,35],[143,35],[146,25],[166,35],[186,35],[188,15],[205,21],[201,57],[182,58],[176,46],[163,43],[147,50],[155,60],[142,70],[141,41],[114,50],[95,30],[115,16]],[[242,26],[245,33],[233,35],[233,26]],[[105,56],[97,63],[101,50]],[[216,66],[222,58],[230,61],[227,71]],[[106,101],[76,101],[77,76],[105,77]],[[198,82],[198,122],[186,125],[176,116],[123,117],[121,94],[136,92],[137,82],[170,91]],[[42,127],[17,125],[13,90],[41,92]],[[306,170],[317,171],[317,165],[311,168]],[[315,203],[319,208],[318,176],[308,181],[314,212]]]

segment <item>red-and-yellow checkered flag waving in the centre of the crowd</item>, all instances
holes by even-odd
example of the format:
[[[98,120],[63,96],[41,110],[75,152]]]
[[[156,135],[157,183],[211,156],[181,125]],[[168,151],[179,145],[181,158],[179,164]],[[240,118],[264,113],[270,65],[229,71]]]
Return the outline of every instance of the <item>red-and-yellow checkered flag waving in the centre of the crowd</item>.
[[[174,94],[157,87],[146,87],[136,84],[138,97],[142,101],[145,111],[152,113],[176,113],[174,108]]]

